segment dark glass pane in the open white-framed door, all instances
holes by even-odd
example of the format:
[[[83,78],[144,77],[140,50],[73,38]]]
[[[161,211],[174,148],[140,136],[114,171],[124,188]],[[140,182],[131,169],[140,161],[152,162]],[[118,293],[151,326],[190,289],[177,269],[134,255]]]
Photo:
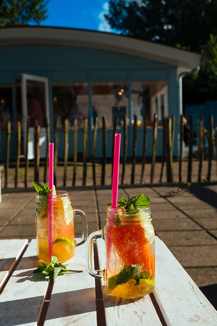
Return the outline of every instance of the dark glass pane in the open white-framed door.
[[[35,121],[41,127],[46,126],[46,104],[44,82],[26,81],[27,108],[30,119],[30,127],[35,126]]]

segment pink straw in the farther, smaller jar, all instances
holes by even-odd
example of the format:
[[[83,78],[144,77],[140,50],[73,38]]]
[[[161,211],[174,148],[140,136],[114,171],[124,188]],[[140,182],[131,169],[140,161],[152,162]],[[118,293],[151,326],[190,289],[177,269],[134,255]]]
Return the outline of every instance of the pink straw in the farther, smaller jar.
[[[53,143],[49,143],[49,189],[53,189]],[[48,216],[49,216],[49,259],[53,253],[53,191],[48,199]]]

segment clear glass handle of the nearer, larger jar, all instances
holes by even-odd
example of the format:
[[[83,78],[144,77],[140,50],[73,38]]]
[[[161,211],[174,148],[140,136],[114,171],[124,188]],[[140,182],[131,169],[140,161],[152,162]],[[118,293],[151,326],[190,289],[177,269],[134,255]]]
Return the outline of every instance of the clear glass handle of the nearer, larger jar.
[[[102,278],[102,273],[97,272],[93,266],[92,266],[92,253],[93,253],[93,244],[96,239],[102,239],[103,238],[103,231],[98,230],[93,233],[91,233],[87,239],[87,249],[86,249],[86,267],[88,273],[98,279]]]

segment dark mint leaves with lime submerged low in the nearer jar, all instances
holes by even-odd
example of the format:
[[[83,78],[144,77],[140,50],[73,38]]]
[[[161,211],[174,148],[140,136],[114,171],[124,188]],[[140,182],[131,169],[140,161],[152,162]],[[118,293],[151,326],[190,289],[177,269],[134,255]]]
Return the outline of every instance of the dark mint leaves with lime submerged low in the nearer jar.
[[[107,286],[110,290],[113,290],[118,285],[125,284],[131,278],[136,281],[134,286],[139,285],[140,279],[149,279],[151,277],[150,271],[140,271],[140,269],[140,265],[123,266],[120,273],[108,278]]]

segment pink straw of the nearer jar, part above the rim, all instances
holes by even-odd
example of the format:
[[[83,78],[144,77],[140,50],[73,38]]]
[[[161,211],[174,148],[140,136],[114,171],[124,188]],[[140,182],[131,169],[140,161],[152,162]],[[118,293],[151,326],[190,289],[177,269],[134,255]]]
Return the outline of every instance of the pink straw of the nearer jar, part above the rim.
[[[121,134],[115,134],[111,208],[117,209]]]

